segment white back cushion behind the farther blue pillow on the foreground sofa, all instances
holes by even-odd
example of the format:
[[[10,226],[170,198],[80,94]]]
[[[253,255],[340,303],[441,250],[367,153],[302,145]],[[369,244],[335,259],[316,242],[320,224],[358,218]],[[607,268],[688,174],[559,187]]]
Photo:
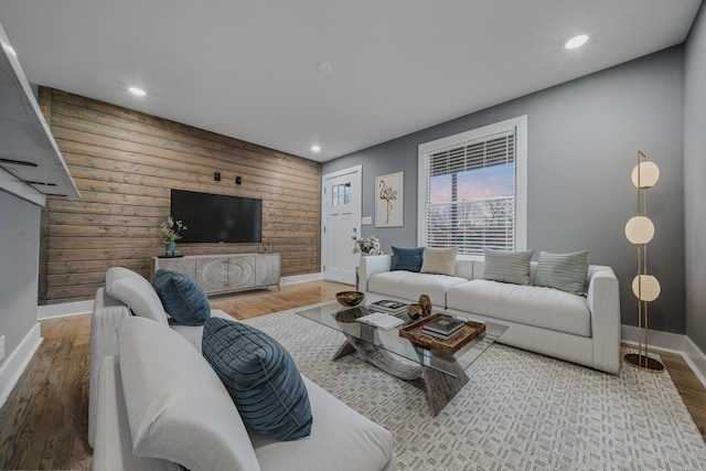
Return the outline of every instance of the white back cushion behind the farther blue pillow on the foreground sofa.
[[[135,315],[169,324],[162,301],[141,275],[122,267],[110,267],[106,271],[106,291],[122,301]]]

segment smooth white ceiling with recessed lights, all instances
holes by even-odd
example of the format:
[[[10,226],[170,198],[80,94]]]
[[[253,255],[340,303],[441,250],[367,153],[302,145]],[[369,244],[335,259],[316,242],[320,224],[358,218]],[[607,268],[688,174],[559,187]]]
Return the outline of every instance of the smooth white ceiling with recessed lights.
[[[699,4],[0,0],[0,23],[31,83],[327,161],[680,44]]]

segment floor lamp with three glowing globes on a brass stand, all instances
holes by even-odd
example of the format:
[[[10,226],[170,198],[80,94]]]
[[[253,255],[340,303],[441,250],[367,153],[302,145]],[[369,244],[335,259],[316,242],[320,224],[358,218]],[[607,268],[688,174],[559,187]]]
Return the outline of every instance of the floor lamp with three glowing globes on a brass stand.
[[[662,373],[664,365],[648,356],[648,304],[660,296],[660,281],[648,274],[648,243],[654,236],[654,224],[648,217],[648,190],[660,179],[660,169],[638,150],[638,165],[632,171],[632,183],[638,188],[638,215],[625,224],[625,237],[638,247],[638,275],[632,280],[632,292],[638,298],[638,353],[628,353],[629,365],[651,373]]]

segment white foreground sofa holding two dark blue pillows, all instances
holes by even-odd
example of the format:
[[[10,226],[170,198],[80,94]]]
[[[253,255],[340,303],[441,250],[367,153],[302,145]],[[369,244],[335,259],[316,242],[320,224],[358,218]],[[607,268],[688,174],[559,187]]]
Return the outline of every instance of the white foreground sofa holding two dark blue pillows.
[[[130,306],[100,288],[93,311],[94,470],[396,469],[392,433],[303,376],[313,417],[309,437],[278,441],[246,427],[201,354],[203,327],[150,319],[165,313],[145,278],[114,270],[107,283],[125,276],[136,288]],[[223,311],[212,315],[232,320]]]

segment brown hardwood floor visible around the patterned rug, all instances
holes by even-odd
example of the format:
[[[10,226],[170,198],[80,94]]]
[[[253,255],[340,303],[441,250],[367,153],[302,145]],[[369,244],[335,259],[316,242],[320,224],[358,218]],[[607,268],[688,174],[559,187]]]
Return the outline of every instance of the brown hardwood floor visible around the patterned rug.
[[[333,299],[346,285],[312,281],[211,298],[214,309],[247,319]],[[0,470],[89,469],[90,315],[42,322],[44,342],[0,408]],[[706,389],[676,354],[660,352],[706,440]]]

